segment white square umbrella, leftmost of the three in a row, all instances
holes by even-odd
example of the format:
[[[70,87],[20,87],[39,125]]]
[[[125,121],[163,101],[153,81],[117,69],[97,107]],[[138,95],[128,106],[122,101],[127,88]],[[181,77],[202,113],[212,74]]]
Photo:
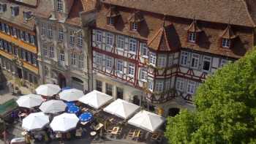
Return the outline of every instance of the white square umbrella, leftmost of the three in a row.
[[[94,90],[85,96],[82,96],[80,99],[78,99],[78,101],[98,109],[99,107],[102,107],[106,103],[110,102],[112,99],[112,96]]]

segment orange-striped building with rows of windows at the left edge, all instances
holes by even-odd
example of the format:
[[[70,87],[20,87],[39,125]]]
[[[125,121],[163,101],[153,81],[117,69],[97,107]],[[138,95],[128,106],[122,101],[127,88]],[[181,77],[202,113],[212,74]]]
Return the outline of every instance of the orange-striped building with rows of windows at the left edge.
[[[42,11],[44,6],[36,0],[0,1],[1,67],[7,75],[18,77],[32,88],[39,83],[34,12]]]

